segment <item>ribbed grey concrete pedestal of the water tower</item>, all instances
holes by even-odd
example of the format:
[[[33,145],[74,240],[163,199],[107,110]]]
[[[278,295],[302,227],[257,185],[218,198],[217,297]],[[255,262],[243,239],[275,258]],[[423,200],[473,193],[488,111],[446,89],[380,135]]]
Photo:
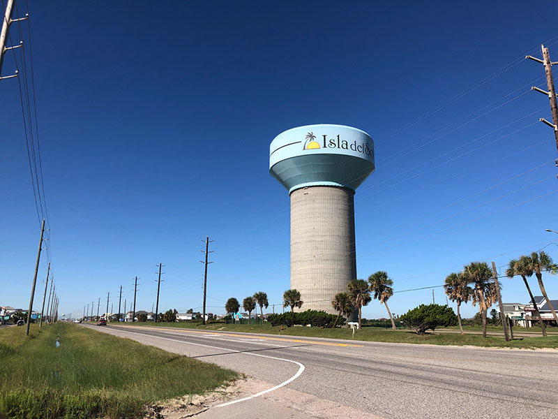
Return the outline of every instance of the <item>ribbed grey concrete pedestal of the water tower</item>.
[[[335,186],[291,193],[291,288],[303,300],[297,311],[337,314],[331,300],[356,279],[353,196]]]

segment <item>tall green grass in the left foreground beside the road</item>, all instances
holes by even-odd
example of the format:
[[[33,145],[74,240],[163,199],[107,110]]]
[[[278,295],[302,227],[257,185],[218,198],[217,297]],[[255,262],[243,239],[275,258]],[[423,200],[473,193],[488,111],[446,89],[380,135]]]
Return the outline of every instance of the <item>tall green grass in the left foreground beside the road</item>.
[[[61,346],[56,348],[56,336]],[[78,325],[0,329],[0,419],[142,418],[146,404],[237,374]]]

